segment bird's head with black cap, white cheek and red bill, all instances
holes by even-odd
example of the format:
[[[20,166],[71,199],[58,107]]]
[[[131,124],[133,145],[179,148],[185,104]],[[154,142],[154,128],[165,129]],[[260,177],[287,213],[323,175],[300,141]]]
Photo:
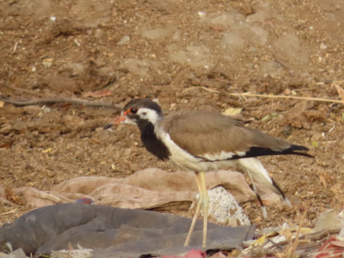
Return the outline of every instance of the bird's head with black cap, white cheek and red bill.
[[[130,100],[123,108],[121,114],[114,122],[105,125],[108,129],[120,123],[130,125],[139,125],[139,122],[150,122],[156,125],[163,117],[160,106],[148,98],[139,98]]]

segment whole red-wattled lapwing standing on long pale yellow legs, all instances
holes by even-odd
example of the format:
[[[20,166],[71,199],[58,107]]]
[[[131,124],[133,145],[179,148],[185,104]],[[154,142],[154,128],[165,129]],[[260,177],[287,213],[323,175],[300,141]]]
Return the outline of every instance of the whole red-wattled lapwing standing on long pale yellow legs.
[[[306,147],[291,145],[267,133],[245,127],[239,121],[217,112],[188,110],[163,116],[160,106],[147,98],[129,101],[121,115],[104,129],[119,123],[137,125],[144,147],[159,159],[168,159],[182,169],[195,172],[200,197],[185,246],[189,245],[201,205],[203,246],[206,245],[209,197],[205,172],[239,164],[247,170],[261,204],[263,216],[266,217],[265,207],[252,178],[276,192],[285,204],[291,204],[255,157],[283,154],[312,157],[307,153],[298,152],[309,150]]]

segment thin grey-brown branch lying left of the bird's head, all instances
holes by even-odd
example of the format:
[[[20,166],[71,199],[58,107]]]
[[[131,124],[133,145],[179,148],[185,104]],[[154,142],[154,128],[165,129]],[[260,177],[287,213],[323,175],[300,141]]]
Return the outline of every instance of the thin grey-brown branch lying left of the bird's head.
[[[37,98],[37,99],[29,99],[29,100],[11,100],[6,98],[0,98],[1,101],[5,103],[10,103],[15,106],[29,106],[29,105],[36,105],[42,103],[71,103],[71,104],[79,104],[84,106],[90,107],[108,107],[114,109],[122,109],[123,106],[119,104],[112,104],[112,103],[105,103],[101,101],[87,101],[83,99],[74,99],[74,98],[60,98],[60,97],[52,97],[52,98]]]

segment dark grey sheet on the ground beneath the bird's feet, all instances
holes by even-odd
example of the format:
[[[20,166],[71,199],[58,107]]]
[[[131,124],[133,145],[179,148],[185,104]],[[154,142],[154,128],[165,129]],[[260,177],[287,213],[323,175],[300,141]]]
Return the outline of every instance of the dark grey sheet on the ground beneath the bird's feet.
[[[183,247],[191,219],[181,216],[89,204],[57,204],[35,209],[0,228],[0,248],[10,242],[25,254],[52,250],[94,249],[94,258],[179,255],[192,249],[229,251],[252,239],[255,226],[225,227],[208,223],[202,248],[203,223],[197,221],[190,246]]]

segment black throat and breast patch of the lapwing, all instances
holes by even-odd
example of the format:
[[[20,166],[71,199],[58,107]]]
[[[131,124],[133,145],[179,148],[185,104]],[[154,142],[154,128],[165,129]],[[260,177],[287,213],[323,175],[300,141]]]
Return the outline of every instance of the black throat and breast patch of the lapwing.
[[[154,133],[154,126],[147,120],[138,120],[137,126],[141,132],[141,141],[146,149],[161,160],[171,155],[166,145]]]

